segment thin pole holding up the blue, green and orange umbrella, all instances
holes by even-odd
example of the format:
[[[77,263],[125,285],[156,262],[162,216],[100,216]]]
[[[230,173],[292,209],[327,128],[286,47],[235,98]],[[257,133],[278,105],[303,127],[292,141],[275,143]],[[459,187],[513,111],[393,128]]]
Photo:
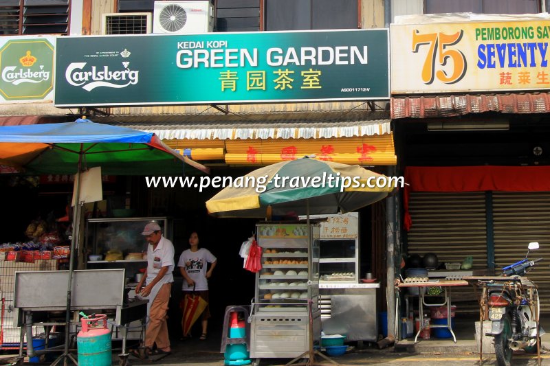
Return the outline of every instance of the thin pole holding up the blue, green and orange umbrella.
[[[71,238],[71,247],[69,249],[69,279],[67,280],[67,308],[65,309],[65,349],[63,354],[59,356],[51,366],[57,365],[61,360],[63,360],[63,365],[67,366],[67,358],[70,358],[71,361],[78,365],[78,362],[69,353],[69,341],[70,330],[71,330],[71,298],[72,298],[72,282],[73,282],[73,272],[74,272],[74,251],[76,249],[76,242],[78,241],[78,236],[80,231],[78,227],[80,226],[80,170],[82,169],[82,157],[83,157],[83,144],[80,144],[80,152],[78,153],[78,170],[76,171],[76,177],[74,179],[74,211],[73,211],[73,230]]]

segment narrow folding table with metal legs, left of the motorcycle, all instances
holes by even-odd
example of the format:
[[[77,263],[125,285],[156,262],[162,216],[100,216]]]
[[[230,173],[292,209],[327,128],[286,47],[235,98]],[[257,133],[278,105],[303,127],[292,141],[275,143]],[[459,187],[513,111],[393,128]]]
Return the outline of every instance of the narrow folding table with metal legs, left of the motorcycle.
[[[419,295],[418,295],[418,308],[419,308],[419,317],[423,314],[423,306],[447,306],[447,324],[430,324],[428,326],[425,326],[422,324],[422,321],[420,321],[419,330],[415,336],[415,343],[417,342],[418,336],[420,332],[424,328],[447,328],[451,334],[452,339],[454,343],[456,343],[456,336],[454,335],[454,332],[451,328],[451,288],[454,286],[468,286],[468,282],[464,280],[439,280],[439,279],[430,279],[428,282],[407,282],[398,284],[398,288],[408,288],[408,287],[417,287],[419,289]],[[426,303],[426,288],[430,287],[441,287],[443,289],[443,302],[442,303]],[[439,295],[438,295],[439,296]]]

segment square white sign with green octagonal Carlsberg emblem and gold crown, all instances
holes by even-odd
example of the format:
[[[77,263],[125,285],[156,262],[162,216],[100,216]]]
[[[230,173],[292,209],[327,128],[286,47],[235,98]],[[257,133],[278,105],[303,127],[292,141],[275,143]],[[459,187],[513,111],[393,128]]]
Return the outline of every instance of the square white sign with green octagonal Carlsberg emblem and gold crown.
[[[0,103],[52,102],[53,36],[0,37]]]

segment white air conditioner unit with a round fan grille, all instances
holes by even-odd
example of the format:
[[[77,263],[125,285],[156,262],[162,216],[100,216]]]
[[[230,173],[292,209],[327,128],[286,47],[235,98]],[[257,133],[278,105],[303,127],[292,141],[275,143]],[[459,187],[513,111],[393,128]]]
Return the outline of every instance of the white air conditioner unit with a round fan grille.
[[[212,32],[214,8],[209,0],[155,1],[153,33]]]

